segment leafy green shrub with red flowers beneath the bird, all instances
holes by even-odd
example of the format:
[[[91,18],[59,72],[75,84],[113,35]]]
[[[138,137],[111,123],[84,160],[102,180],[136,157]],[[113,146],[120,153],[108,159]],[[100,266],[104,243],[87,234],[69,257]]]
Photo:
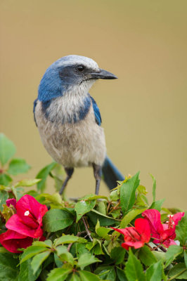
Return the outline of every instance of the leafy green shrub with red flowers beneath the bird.
[[[10,230],[11,221],[16,224],[15,218],[22,214],[28,220],[30,215],[27,227],[33,230],[36,223],[36,228],[42,228],[44,239],[39,241],[39,235],[30,236],[27,231],[31,242],[26,249],[12,253],[1,246],[0,281],[187,280],[187,214],[172,216],[178,210],[169,211],[162,207],[163,200],[156,201],[153,176],[150,204],[139,173],[118,183],[109,197],[91,194],[74,202],[58,194],[64,172],[54,162],[41,169],[36,179],[13,183],[12,176],[30,168],[24,159],[12,159],[14,153],[15,145],[1,134],[0,237],[14,231]],[[44,192],[49,176],[56,187],[53,195]],[[32,185],[37,189],[24,192],[23,188]],[[28,195],[32,196],[32,207],[22,209],[24,198],[31,198]],[[40,211],[44,205],[49,211]]]

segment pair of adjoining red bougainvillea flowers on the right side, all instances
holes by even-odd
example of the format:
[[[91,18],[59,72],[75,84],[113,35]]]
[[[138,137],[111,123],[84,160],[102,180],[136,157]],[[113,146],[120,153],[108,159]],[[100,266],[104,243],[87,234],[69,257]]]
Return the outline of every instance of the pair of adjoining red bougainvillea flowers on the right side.
[[[161,223],[160,212],[156,209],[148,209],[142,213],[144,218],[136,219],[134,227],[112,229],[124,235],[124,243],[122,243],[124,249],[128,250],[129,247],[141,248],[144,243],[150,241],[150,238],[153,238],[153,243],[163,244],[168,248],[170,245],[176,244],[174,241],[176,237],[175,228],[183,215],[184,212],[177,213],[169,216],[167,223]]]

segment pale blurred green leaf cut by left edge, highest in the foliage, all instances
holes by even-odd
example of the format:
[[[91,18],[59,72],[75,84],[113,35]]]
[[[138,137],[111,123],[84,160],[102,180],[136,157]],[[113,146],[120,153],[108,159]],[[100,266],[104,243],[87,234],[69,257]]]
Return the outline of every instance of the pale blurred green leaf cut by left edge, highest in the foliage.
[[[15,145],[4,133],[0,133],[0,162],[2,166],[15,154]]]

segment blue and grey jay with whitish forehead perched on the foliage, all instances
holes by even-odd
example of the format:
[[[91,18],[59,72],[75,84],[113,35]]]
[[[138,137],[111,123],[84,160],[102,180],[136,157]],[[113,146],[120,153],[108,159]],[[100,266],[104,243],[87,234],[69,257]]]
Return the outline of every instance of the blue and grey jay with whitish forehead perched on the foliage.
[[[50,65],[42,77],[34,100],[34,121],[49,155],[63,165],[63,194],[74,169],[93,166],[98,195],[103,177],[111,190],[124,176],[106,154],[101,114],[89,89],[98,79],[117,79],[91,58],[66,55]]]

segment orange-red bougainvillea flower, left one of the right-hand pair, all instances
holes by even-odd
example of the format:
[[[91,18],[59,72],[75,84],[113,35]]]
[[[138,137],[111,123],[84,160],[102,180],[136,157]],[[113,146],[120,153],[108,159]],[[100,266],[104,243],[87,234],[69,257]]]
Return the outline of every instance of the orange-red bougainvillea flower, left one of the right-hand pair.
[[[135,249],[141,248],[144,243],[150,240],[150,226],[146,219],[137,218],[134,225],[135,227],[122,229],[112,228],[124,235],[124,243],[122,243],[124,249],[128,250],[129,247],[134,247]]]

